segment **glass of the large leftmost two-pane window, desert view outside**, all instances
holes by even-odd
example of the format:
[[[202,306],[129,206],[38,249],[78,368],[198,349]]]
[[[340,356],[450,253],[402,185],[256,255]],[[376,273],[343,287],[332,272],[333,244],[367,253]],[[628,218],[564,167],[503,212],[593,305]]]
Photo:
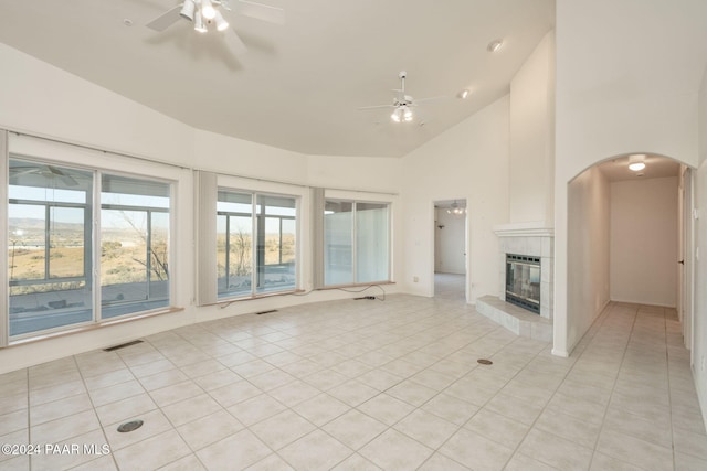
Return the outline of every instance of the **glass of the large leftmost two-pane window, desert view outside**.
[[[169,183],[14,156],[9,182],[11,338],[169,306]]]

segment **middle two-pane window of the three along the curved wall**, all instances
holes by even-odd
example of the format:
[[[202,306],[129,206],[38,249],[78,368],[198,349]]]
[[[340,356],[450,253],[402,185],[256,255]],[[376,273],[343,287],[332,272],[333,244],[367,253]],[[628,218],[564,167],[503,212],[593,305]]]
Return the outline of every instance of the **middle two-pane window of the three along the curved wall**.
[[[296,288],[296,214],[295,197],[219,191],[219,298]]]

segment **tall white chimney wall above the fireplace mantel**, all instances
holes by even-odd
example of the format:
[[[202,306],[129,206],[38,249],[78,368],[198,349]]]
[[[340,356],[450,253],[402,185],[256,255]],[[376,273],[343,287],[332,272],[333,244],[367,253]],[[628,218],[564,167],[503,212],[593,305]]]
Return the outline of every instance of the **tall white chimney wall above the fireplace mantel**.
[[[510,82],[510,223],[552,227],[555,214],[555,32]]]

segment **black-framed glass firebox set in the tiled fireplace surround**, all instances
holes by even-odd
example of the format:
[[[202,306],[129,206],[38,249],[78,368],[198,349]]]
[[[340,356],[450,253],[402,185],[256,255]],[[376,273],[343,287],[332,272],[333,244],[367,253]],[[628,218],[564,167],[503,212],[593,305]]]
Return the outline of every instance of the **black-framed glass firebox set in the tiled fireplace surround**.
[[[540,257],[506,254],[506,301],[540,313]]]

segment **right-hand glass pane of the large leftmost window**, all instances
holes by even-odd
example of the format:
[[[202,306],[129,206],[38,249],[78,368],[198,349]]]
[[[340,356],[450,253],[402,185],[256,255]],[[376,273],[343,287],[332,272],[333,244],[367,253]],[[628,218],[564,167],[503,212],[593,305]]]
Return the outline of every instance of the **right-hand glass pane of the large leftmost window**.
[[[168,183],[101,178],[101,317],[169,306]]]

